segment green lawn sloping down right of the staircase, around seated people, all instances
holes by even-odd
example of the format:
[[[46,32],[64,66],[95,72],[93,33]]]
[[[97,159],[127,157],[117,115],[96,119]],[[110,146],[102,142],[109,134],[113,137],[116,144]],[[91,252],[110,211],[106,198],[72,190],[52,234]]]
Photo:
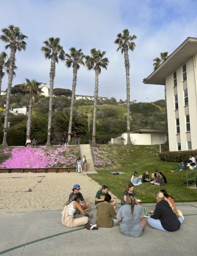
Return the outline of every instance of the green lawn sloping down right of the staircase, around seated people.
[[[123,192],[134,171],[142,175],[148,170],[150,175],[155,169],[162,171],[167,178],[167,184],[162,187],[152,186],[150,183],[143,183],[135,187],[136,196],[144,203],[155,203],[155,193],[160,189],[166,189],[169,195],[172,195],[176,202],[194,202],[197,201],[197,189],[187,188],[184,184],[186,174],[190,171],[188,168],[169,174],[169,170],[178,168],[178,163],[162,162],[158,158],[158,146],[107,146],[99,145],[100,151],[103,151],[105,158],[113,155],[113,171],[121,171],[124,174],[113,175],[112,166],[106,169],[97,169],[98,174],[89,174],[94,181],[100,185],[106,184],[110,191],[123,199]],[[102,148],[102,149],[101,149]],[[107,149],[107,150],[106,150]],[[106,150],[106,151],[105,151]],[[197,171],[191,176],[196,177]],[[194,180],[195,183],[195,180]]]

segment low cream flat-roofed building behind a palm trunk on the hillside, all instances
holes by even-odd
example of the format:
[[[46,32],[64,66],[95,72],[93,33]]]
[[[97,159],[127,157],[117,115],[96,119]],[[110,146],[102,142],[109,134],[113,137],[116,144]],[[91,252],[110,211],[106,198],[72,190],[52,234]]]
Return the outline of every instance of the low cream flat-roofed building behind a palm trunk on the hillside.
[[[130,138],[133,145],[159,145],[167,140],[166,130],[148,130],[140,129],[130,132]],[[127,132],[124,132],[116,138],[111,138],[108,144],[127,144]]]

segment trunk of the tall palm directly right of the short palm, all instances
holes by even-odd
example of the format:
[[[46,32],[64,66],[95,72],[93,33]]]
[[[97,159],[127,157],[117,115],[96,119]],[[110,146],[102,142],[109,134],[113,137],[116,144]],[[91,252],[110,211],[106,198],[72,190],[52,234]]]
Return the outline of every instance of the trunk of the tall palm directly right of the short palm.
[[[56,56],[51,59],[51,69],[50,69],[50,89],[49,89],[49,119],[48,119],[48,129],[47,129],[47,142],[46,146],[51,145],[51,124],[52,124],[52,106],[53,106],[53,84],[56,75]]]

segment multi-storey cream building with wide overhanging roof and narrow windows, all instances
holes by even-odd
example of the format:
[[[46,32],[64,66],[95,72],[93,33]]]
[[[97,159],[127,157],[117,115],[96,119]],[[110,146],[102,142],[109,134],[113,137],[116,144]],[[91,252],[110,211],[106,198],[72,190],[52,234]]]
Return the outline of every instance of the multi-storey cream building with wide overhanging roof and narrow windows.
[[[197,149],[197,38],[188,37],[144,83],[166,86],[169,150]]]

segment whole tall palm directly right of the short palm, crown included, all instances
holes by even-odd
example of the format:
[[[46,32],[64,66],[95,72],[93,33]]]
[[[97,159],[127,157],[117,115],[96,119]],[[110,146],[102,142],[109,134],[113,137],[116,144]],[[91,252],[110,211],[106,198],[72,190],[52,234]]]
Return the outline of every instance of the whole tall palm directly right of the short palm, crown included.
[[[52,123],[52,100],[53,100],[53,84],[56,75],[56,62],[58,60],[65,59],[65,52],[63,47],[59,44],[59,37],[50,37],[48,40],[44,41],[45,46],[41,48],[42,52],[46,59],[51,59],[51,68],[50,68],[50,90],[49,90],[49,120],[47,128],[47,142],[46,146],[51,145],[51,123]]]

